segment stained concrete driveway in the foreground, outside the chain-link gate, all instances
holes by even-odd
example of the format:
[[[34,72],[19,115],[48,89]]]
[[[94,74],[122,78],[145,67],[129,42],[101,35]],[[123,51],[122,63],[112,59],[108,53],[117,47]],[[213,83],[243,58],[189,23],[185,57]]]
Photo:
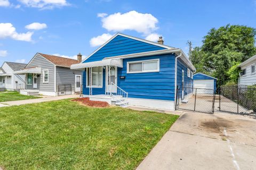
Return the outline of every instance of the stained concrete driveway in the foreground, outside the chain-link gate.
[[[185,112],[137,169],[256,169],[256,120]]]

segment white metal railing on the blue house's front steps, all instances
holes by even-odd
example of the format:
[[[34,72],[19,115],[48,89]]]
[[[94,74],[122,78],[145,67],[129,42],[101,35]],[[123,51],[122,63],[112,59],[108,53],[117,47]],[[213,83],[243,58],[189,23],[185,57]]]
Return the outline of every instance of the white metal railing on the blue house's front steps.
[[[113,88],[115,87],[115,91],[112,92]],[[123,104],[124,106],[128,106],[127,103],[127,98],[128,98],[128,92],[124,91],[123,89],[119,88],[116,86],[115,83],[111,82],[111,87],[110,87],[110,96],[113,97],[116,101],[119,103]]]

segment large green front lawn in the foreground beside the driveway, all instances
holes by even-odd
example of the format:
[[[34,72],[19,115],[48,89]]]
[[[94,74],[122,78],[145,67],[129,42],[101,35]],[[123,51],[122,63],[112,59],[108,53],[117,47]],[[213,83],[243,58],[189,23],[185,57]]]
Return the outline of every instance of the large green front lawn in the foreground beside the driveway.
[[[0,108],[0,167],[135,169],[177,118],[68,99]]]

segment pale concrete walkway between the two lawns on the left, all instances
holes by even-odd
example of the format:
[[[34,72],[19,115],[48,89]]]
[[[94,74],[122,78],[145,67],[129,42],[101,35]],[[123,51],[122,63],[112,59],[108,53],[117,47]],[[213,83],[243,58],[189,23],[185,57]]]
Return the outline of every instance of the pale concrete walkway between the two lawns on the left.
[[[78,98],[78,97],[79,97],[79,95],[44,96],[43,98],[38,98],[38,99],[5,101],[5,102],[0,103],[0,107],[18,106],[18,105],[25,105],[25,104],[31,104],[31,103],[41,103],[44,101],[54,101],[54,100],[62,100],[62,99]]]

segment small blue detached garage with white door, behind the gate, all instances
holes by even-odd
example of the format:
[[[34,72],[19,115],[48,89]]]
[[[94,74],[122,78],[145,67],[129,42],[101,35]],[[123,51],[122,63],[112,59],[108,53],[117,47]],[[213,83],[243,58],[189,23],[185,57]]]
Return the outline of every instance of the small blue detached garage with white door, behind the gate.
[[[196,73],[193,75],[193,79],[194,79],[194,88],[214,90],[214,91],[205,90],[207,91],[207,93],[215,92],[217,89],[217,79],[214,77],[211,77],[210,75],[206,75],[203,73]]]

